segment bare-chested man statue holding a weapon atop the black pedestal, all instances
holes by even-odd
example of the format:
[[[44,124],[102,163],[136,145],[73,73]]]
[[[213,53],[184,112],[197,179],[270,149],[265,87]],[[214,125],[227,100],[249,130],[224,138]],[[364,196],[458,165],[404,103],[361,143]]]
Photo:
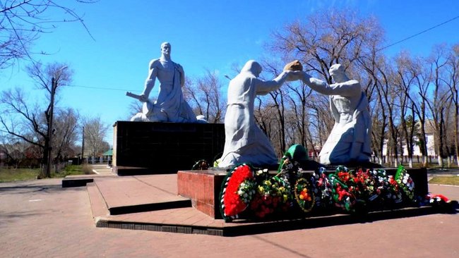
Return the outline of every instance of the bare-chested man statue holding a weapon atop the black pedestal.
[[[198,122],[193,110],[184,100],[181,87],[185,82],[185,72],[178,63],[171,59],[171,45],[169,42],[161,44],[161,57],[150,61],[148,78],[145,81],[145,89],[141,95],[127,92],[126,95],[138,99],[143,104],[142,113],[137,113],[131,121],[150,122]],[[155,102],[148,100],[155,80],[160,81],[160,89]],[[199,116],[203,121],[202,116]]]

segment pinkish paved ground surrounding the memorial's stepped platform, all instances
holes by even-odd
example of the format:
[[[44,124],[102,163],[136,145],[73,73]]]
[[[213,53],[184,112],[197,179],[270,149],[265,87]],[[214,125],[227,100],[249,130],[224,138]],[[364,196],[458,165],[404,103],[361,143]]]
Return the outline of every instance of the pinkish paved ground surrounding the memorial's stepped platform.
[[[459,188],[429,190],[459,199]],[[459,257],[458,242],[458,214],[234,238],[96,228],[86,188],[56,179],[0,184],[0,257],[439,258]]]

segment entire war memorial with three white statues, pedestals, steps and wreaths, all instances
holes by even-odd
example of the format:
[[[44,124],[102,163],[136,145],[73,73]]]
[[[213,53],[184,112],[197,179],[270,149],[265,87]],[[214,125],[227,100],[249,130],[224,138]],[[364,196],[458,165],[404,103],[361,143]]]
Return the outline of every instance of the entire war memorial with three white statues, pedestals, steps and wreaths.
[[[184,68],[172,61],[171,44],[160,50],[143,92],[126,93],[143,110],[114,125],[118,176],[88,184],[96,226],[240,235],[417,216],[451,204],[429,195],[425,168],[370,162],[368,100],[341,64],[330,66],[329,85],[299,61],[262,80],[261,64],[249,60],[229,82],[225,123],[212,124],[186,103]],[[335,124],[318,162],[301,145],[278,157],[254,119],[257,95],[294,80],[329,96]],[[149,99],[153,87],[159,89],[155,101]],[[63,187],[71,186],[65,181]]]

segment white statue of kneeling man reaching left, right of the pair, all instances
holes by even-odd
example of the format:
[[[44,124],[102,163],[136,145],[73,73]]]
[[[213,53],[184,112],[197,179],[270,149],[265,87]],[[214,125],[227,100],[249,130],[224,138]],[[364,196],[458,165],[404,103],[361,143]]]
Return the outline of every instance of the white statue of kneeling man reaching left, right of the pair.
[[[340,64],[330,66],[329,73],[335,81],[332,85],[301,73],[303,82],[312,90],[330,95],[330,109],[335,118],[330,136],[318,154],[319,162],[332,165],[369,162],[371,116],[360,83],[347,78]]]

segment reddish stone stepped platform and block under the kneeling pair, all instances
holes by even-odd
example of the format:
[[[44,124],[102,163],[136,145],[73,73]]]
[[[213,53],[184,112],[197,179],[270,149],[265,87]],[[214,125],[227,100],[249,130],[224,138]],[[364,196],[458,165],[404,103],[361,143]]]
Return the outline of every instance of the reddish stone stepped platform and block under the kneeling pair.
[[[425,171],[408,171],[426,178]],[[250,235],[348,223],[362,223],[445,212],[436,207],[370,211],[363,218],[350,214],[314,214],[262,221],[215,219],[223,171],[179,171],[148,176],[94,177],[87,190],[97,227],[208,235]],[[424,179],[417,192],[427,193]],[[427,178],[425,180],[427,182]],[[179,195],[179,193],[181,193]],[[185,197],[186,196],[186,197]]]

